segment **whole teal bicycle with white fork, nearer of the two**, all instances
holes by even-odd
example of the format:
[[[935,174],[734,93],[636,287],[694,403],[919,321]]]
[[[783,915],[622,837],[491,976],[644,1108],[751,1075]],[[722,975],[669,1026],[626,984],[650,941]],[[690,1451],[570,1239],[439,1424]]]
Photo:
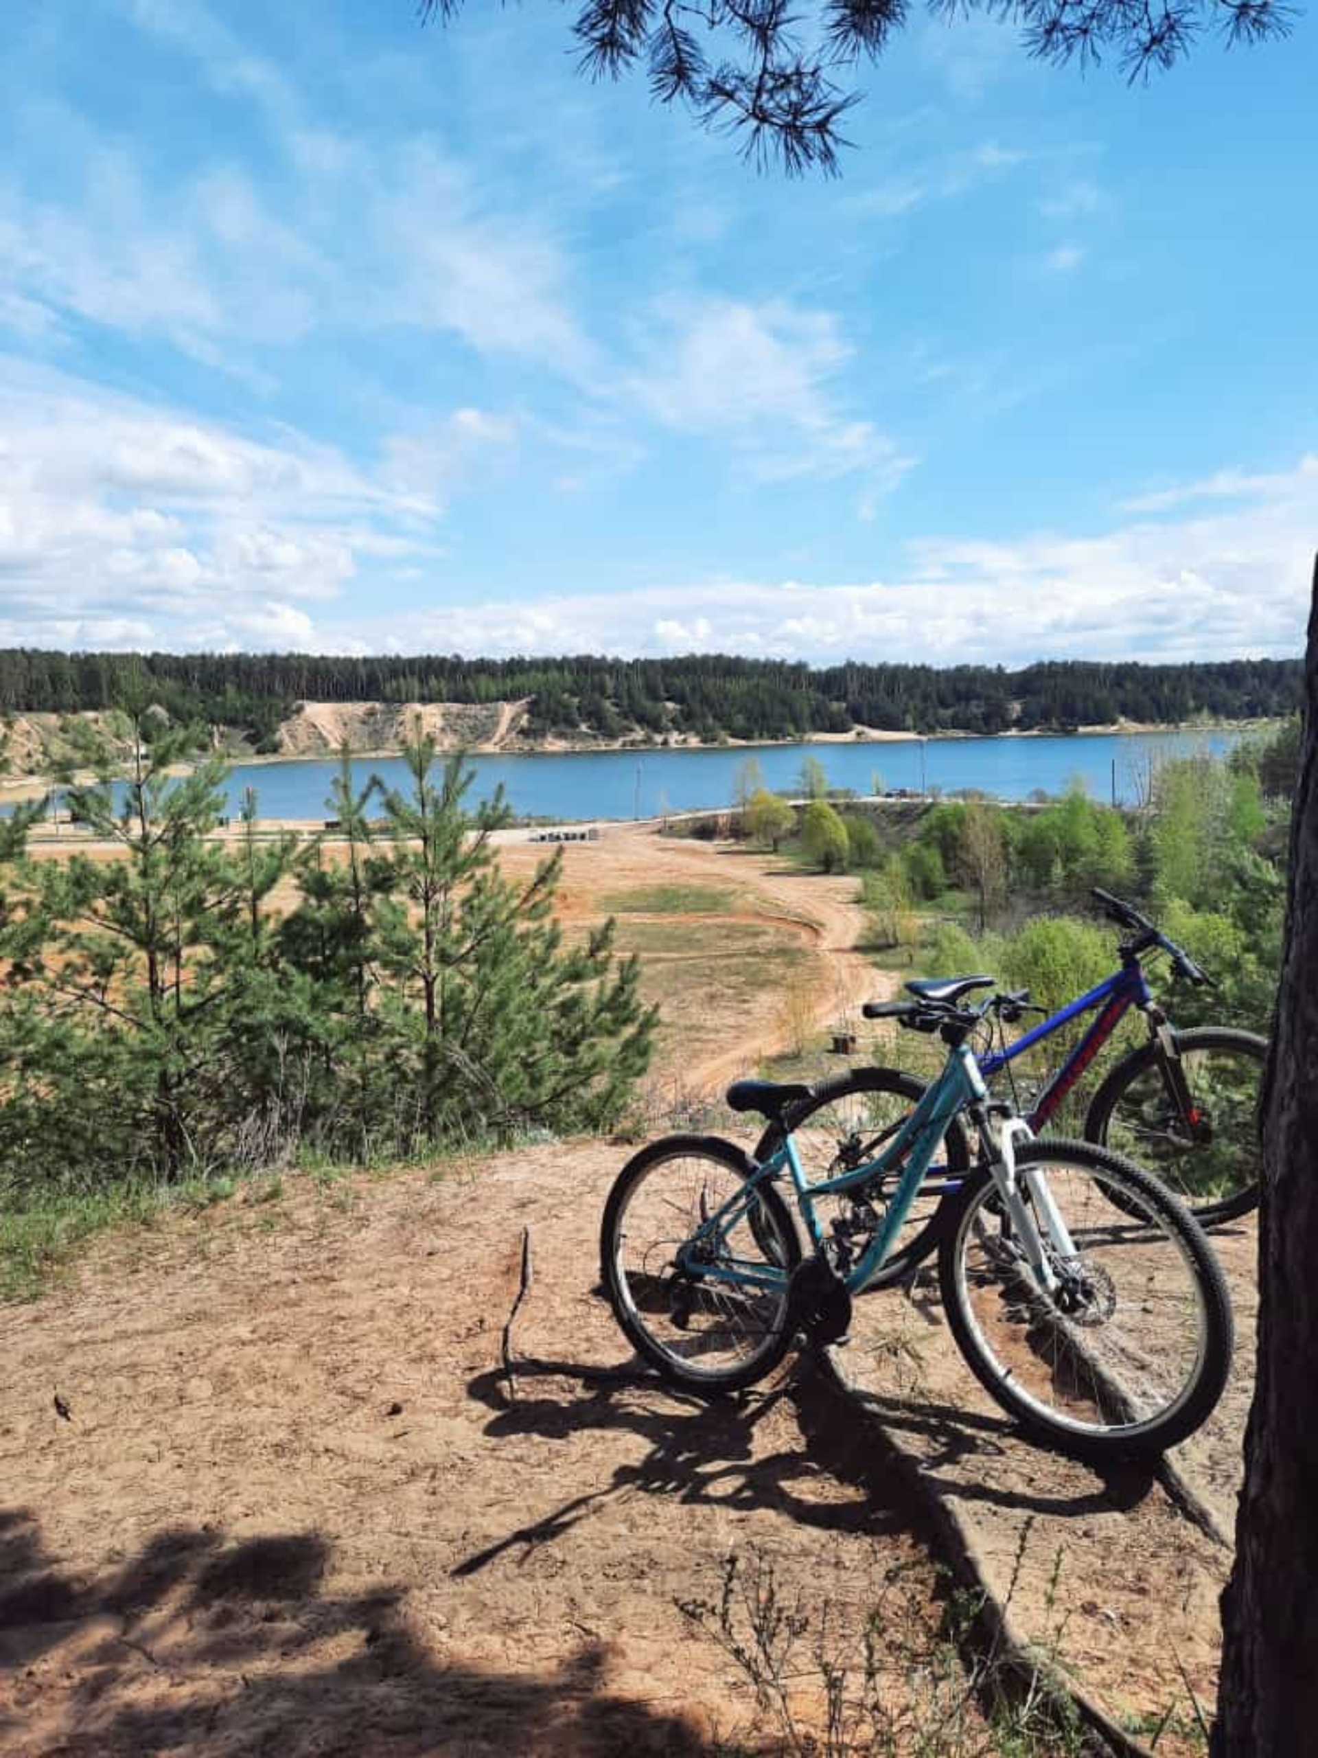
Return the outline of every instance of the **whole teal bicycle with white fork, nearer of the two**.
[[[852,1296],[884,1280],[944,1137],[968,1122],[977,1157],[956,1190],[945,1160],[938,1173],[951,1204],[938,1283],[984,1389],[1033,1436],[1097,1463],[1162,1454],[1204,1422],[1230,1371],[1232,1310],[1202,1229],[1130,1160],[1035,1137],[989,1099],[968,1039],[991,1006],[865,1007],[940,1032],[949,1053],[882,1151],[838,1176],[810,1181],[796,1151],[812,1088],[773,1081],[728,1090],[733,1111],[775,1125],[764,1159],[715,1136],[668,1136],[624,1166],[601,1275],[647,1362],[689,1391],[731,1392],[764,1378],[801,1334],[842,1343]]]

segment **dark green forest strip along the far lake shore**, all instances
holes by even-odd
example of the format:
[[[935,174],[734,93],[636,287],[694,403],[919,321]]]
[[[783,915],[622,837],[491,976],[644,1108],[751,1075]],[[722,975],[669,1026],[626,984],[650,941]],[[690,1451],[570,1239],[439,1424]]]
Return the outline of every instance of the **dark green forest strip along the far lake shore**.
[[[1292,714],[1299,659],[1202,665],[1044,661],[861,665],[692,654],[464,659],[445,654],[97,654],[0,650],[0,716],[105,710],[149,696],[176,723],[232,728],[274,749],[299,701],[527,700],[524,737],[801,738],[858,726],[910,733],[1068,731],[1118,719],[1174,724]]]

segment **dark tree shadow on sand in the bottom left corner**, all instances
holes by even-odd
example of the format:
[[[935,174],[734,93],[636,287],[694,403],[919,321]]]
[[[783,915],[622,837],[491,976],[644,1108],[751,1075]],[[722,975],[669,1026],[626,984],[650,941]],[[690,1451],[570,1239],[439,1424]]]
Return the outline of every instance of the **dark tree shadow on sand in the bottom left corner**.
[[[452,1661],[406,1595],[325,1589],[316,1533],[156,1533],[98,1577],[60,1566],[0,1508],[0,1749],[14,1758],[186,1751],[279,1758],[706,1749],[680,1714],[615,1696],[608,1649],[552,1672]]]

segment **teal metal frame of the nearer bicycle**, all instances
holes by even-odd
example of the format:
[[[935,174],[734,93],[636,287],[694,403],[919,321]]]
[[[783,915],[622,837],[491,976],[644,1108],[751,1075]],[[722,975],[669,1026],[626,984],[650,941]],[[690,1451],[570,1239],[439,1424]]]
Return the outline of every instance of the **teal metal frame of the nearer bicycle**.
[[[852,1167],[838,1178],[824,1178],[814,1185],[801,1169],[791,1129],[786,1130],[782,1146],[763,1160],[750,1178],[747,1178],[742,1190],[735,1192],[713,1215],[706,1217],[680,1246],[677,1253],[678,1268],[706,1282],[731,1282],[740,1287],[782,1287],[787,1280],[786,1271],[766,1266],[763,1260],[749,1262],[728,1255],[722,1255],[719,1262],[713,1260],[717,1252],[726,1250],[728,1236],[756,1202],[759,1185],[775,1178],[786,1167],[796,1192],[801,1220],[817,1250],[822,1245],[824,1232],[815,1215],[815,1201],[882,1176],[884,1171],[896,1166],[909,1153],[909,1162],[887,1204],[882,1227],[847,1273],[847,1287],[852,1294],[859,1294],[882,1269],[947,1125],[968,1104],[979,1104],[986,1097],[988,1088],[974,1055],[965,1044],[954,1046],[938,1079],[926,1090],[924,1097],[877,1160]]]

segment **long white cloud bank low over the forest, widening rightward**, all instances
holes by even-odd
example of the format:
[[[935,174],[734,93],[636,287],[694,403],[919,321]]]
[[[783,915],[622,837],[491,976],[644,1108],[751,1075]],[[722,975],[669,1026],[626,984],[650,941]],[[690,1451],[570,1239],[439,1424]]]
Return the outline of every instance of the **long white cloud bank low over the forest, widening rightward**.
[[[1302,645],[1318,466],[1248,478],[1255,505],[1088,538],[928,540],[887,580],[703,580],[532,605],[487,601],[392,626],[397,650],[671,654],[815,661],[1209,659]],[[371,642],[362,626],[336,647]]]

